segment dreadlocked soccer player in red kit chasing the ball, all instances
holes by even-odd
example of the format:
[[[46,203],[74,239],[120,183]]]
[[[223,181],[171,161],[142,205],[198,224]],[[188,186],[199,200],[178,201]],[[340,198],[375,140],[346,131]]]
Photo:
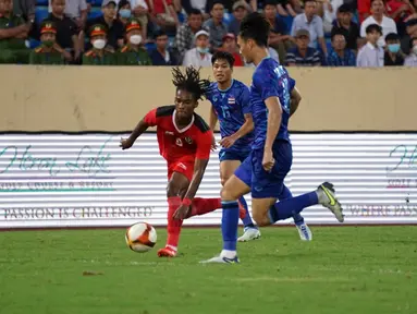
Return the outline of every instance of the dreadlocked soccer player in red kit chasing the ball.
[[[175,105],[150,110],[137,124],[128,138],[122,138],[123,149],[132,147],[136,138],[149,126],[157,126],[160,155],[168,164],[168,239],[158,256],[174,257],[177,253],[183,220],[221,208],[219,198],[194,197],[201,182],[210,157],[212,132],[200,116],[195,113],[198,100],[210,88],[208,80],[200,80],[199,71],[186,68],[172,70],[176,87]],[[175,215],[176,213],[176,215]],[[180,214],[181,213],[181,214]],[[241,215],[245,215],[242,213]]]

